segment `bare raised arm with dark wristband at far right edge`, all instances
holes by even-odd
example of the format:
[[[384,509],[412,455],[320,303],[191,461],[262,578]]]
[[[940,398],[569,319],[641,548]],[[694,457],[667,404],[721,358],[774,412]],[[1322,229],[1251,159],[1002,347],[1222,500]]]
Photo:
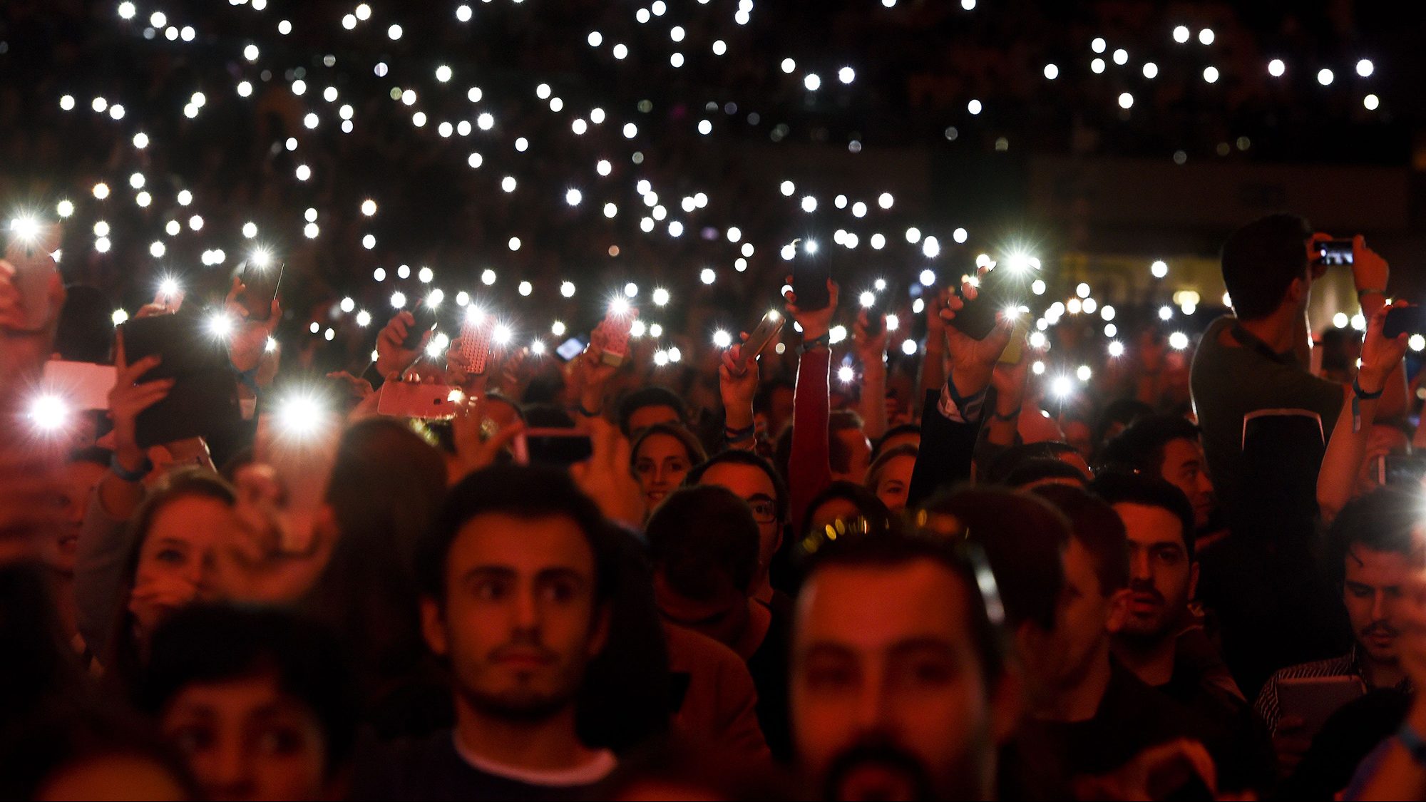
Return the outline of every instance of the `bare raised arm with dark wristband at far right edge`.
[[[1376,420],[1380,405],[1379,398],[1386,382],[1399,372],[1402,358],[1406,355],[1406,334],[1395,340],[1387,340],[1382,334],[1390,308],[1382,305],[1372,313],[1366,340],[1362,342],[1362,368],[1356,375],[1356,387],[1346,390],[1346,402],[1342,404],[1342,414],[1332,427],[1332,438],[1328,441],[1326,454],[1322,455],[1322,468],[1318,472],[1318,507],[1329,524],[1346,502],[1352,501],[1372,421]]]

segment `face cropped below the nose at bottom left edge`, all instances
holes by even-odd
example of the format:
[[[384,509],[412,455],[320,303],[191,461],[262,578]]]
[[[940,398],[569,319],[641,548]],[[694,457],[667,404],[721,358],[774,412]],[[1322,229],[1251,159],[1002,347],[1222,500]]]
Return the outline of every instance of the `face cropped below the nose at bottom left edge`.
[[[327,741],[272,675],[194,682],[160,721],[204,799],[325,799]]]

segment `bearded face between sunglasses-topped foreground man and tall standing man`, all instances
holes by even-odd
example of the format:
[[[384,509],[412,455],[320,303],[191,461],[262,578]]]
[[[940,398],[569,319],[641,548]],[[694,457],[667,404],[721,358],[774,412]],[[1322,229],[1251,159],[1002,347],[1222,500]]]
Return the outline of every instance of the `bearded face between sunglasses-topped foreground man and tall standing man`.
[[[1172,638],[1198,584],[1198,565],[1184,545],[1184,522],[1162,507],[1115,504],[1129,535],[1127,635]]]

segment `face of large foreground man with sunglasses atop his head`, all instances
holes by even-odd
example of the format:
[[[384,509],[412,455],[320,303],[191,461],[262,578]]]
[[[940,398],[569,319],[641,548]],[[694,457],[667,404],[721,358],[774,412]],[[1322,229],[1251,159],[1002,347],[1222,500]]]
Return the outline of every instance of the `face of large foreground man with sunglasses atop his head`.
[[[797,599],[791,724],[797,755],[826,782],[861,745],[914,756],[938,798],[978,799],[1011,702],[990,688],[965,588],[941,565],[833,567]],[[994,699],[994,701],[992,701]],[[1002,724],[1004,722],[1004,724]],[[853,771],[841,799],[898,798],[881,772]]]

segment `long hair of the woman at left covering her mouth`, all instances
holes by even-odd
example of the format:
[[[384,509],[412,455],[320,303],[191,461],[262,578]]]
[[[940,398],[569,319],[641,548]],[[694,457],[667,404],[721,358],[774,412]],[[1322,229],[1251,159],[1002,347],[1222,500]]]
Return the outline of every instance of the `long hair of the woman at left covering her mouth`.
[[[128,601],[134,594],[134,578],[138,574],[138,555],[144,551],[144,541],[148,539],[148,529],[153,528],[154,518],[174,501],[193,497],[211,498],[228,507],[232,507],[238,499],[232,485],[217,475],[201,468],[185,468],[168,474],[155,485],[128,524],[128,554],[124,557],[124,572],[114,605],[113,625],[103,644],[90,645],[96,654],[101,655],[100,665],[124,688],[135,686],[144,665],[134,632],[134,614],[128,611]]]

